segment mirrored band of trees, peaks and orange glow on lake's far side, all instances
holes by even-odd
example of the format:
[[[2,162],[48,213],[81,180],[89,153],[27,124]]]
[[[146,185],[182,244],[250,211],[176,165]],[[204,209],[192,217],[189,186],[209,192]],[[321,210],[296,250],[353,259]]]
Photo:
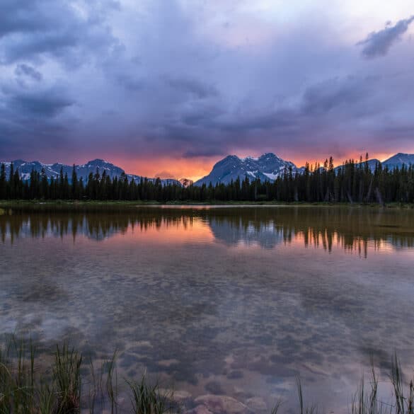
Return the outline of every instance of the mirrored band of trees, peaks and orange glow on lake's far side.
[[[345,251],[367,256],[374,251],[413,248],[414,214],[397,209],[347,209],[326,207],[280,207],[242,209],[147,208],[82,212],[50,212],[48,209],[6,209],[0,217],[0,238],[46,236],[86,236],[103,241],[117,234],[143,234],[151,230],[180,231],[184,239],[197,227],[202,240],[212,234],[228,246],[258,245],[275,248],[279,243],[303,243],[331,252],[340,246]]]

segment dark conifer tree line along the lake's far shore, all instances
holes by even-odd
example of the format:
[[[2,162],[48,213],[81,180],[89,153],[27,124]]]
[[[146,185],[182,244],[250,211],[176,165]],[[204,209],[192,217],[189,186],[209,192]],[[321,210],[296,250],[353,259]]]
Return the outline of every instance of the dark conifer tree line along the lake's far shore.
[[[280,202],[414,202],[414,166],[371,168],[365,161],[353,159],[334,168],[333,159],[306,163],[302,173],[292,168],[274,182],[237,178],[229,184],[217,183],[183,187],[178,183],[163,185],[160,178],[129,180],[125,173],[111,178],[105,171],[90,173],[87,180],[78,178],[75,168],[71,177],[60,171],[48,178],[45,170],[32,171],[23,180],[18,169],[0,166],[0,200],[142,200],[142,201],[280,201]]]

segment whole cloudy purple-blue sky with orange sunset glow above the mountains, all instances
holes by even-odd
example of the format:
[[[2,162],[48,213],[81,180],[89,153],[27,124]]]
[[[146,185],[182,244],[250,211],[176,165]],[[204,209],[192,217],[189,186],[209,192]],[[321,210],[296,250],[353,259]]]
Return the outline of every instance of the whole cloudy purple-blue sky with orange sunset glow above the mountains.
[[[414,153],[413,0],[0,0],[0,159],[200,178]]]

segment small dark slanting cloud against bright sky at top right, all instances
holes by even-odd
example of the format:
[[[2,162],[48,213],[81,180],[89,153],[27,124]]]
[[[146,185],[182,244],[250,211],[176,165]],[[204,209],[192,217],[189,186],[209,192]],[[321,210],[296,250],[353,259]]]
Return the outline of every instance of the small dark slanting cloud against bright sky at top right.
[[[369,33],[366,39],[361,40],[357,45],[362,47],[362,54],[368,59],[374,57],[385,56],[390,50],[391,46],[401,39],[401,35],[406,33],[410,23],[413,23],[414,16],[410,18],[398,21],[395,25],[391,26],[390,22],[387,22],[386,28],[379,30],[379,32]]]

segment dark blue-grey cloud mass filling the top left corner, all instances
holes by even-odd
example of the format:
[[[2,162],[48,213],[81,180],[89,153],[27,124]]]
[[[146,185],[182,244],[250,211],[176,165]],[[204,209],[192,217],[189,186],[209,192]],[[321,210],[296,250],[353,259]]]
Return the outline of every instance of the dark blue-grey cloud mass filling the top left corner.
[[[40,62],[52,56],[74,66],[88,62],[96,52],[105,56],[117,40],[105,25],[103,5],[108,12],[116,6],[113,1],[2,1],[0,64]]]

